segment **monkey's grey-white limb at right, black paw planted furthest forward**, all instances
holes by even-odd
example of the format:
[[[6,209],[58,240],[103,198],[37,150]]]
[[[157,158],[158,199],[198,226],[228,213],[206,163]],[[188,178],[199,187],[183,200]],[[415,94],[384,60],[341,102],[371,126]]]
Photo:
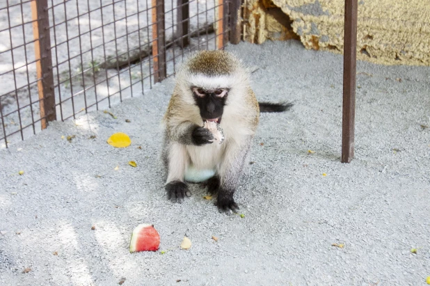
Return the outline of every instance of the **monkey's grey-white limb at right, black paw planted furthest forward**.
[[[244,145],[229,145],[225,150],[224,161],[219,170],[221,185],[218,188],[216,202],[218,209],[222,211],[231,209],[236,212],[239,209],[237,203],[234,202],[233,194],[239,183],[250,143],[251,139],[248,139]]]

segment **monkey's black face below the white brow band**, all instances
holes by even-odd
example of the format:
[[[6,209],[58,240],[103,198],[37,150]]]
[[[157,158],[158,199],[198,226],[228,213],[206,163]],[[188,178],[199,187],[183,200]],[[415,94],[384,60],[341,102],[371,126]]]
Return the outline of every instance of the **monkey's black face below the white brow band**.
[[[205,90],[203,88],[193,87],[191,90],[193,91],[196,105],[200,109],[200,116],[202,116],[202,119],[221,123],[228,89],[218,88]]]

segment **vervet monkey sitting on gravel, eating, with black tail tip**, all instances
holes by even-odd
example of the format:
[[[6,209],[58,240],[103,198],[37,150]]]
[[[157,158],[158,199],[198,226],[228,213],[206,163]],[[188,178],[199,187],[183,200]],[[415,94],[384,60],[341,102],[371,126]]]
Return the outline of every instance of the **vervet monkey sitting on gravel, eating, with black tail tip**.
[[[259,104],[249,77],[250,70],[238,58],[219,50],[194,52],[178,70],[164,116],[162,152],[166,191],[173,202],[191,196],[186,182],[205,181],[208,191],[217,193],[220,211],[239,209],[233,194],[260,111],[280,112],[292,106]],[[204,127],[209,124],[221,129],[224,141],[214,140]]]

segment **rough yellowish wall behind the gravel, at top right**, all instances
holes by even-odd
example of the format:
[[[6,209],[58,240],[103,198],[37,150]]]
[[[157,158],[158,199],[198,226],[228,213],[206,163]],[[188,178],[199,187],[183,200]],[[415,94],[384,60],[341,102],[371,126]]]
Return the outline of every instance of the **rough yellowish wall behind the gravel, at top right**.
[[[344,0],[247,0],[245,40],[300,38],[308,49],[343,51]],[[358,0],[357,57],[430,65],[429,0]]]

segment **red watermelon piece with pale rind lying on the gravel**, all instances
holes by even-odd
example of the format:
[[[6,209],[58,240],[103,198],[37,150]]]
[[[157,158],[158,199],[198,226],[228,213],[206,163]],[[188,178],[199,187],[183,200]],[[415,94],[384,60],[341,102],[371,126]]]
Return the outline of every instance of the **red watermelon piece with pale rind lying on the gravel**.
[[[130,241],[130,253],[138,251],[157,251],[160,236],[154,225],[142,223],[134,228]]]

